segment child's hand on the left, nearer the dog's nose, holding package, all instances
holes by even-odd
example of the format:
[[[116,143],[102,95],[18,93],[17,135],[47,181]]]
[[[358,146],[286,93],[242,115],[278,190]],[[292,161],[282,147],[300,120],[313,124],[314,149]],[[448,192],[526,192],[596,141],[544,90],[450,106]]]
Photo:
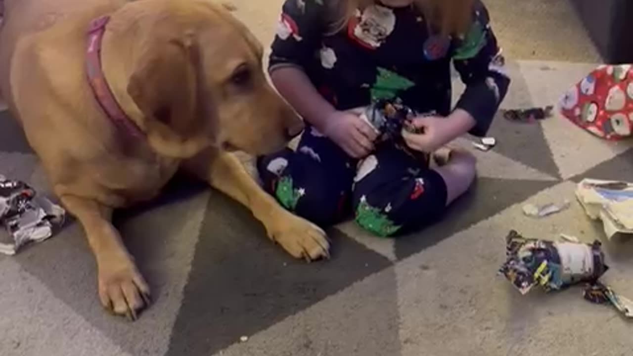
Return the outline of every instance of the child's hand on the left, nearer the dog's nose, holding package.
[[[326,120],[323,134],[353,158],[365,158],[374,149],[378,134],[352,111],[333,111]]]

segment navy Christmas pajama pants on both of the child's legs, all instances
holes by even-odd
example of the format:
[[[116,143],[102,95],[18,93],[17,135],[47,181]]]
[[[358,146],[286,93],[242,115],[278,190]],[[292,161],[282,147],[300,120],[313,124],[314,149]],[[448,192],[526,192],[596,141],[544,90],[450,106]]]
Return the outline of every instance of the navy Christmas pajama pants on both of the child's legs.
[[[436,222],[446,208],[441,175],[392,144],[359,162],[306,127],[296,151],[261,156],[257,168],[281,205],[323,227],[353,213],[364,229],[394,236]]]

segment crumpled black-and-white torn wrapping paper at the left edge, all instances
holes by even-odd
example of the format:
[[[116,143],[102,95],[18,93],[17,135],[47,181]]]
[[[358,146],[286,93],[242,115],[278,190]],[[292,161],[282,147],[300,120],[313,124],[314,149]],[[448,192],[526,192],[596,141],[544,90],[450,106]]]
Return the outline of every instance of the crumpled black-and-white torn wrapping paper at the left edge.
[[[53,227],[63,224],[65,210],[24,182],[0,175],[0,225],[9,241],[0,242],[0,253],[15,255],[30,242],[41,242],[53,235]]]

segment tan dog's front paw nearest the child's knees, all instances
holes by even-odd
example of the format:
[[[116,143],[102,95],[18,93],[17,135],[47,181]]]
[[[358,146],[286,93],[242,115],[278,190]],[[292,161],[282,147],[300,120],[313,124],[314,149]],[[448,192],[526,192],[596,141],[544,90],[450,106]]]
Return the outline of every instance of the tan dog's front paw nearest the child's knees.
[[[330,257],[330,242],[325,231],[292,213],[284,211],[280,219],[275,219],[275,227],[268,229],[268,234],[295,258],[310,262]]]

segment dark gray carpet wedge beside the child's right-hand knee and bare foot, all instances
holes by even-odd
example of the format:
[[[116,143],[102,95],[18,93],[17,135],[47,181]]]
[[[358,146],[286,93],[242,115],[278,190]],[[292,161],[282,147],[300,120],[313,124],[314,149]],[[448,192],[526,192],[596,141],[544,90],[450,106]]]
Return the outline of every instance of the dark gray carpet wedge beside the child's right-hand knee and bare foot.
[[[467,194],[449,207],[441,222],[415,234],[396,239],[396,257],[401,260],[436,245],[456,232],[492,217],[501,210],[555,184],[556,181],[480,178]]]

